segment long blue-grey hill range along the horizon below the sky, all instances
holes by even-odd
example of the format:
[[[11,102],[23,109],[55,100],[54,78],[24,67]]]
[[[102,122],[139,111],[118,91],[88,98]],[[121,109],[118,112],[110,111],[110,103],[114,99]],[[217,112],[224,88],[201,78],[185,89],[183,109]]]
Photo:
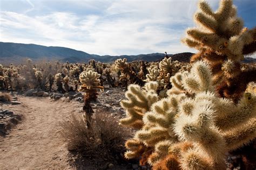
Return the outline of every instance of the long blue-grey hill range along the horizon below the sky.
[[[173,60],[189,62],[193,53],[168,54]],[[144,60],[159,61],[165,57],[164,53],[139,54],[139,55],[96,55],[66,47],[47,47],[36,44],[20,44],[12,42],[0,42],[0,63],[19,63],[26,58],[32,60],[58,60],[62,62],[87,62],[95,59],[100,62],[113,62],[126,58],[127,61]],[[256,62],[254,58],[246,58],[245,62]]]

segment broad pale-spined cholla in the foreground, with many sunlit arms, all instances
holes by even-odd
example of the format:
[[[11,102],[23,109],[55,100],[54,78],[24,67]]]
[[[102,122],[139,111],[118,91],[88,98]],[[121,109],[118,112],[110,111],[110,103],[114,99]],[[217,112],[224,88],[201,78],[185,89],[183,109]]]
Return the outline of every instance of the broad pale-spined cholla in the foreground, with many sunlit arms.
[[[126,141],[125,157],[141,157],[154,169],[224,169],[225,154],[256,137],[254,85],[238,104],[221,98],[210,67],[202,61],[194,63],[190,73],[171,77],[171,82],[169,96],[154,102],[147,94],[155,92],[134,85],[127,91],[129,101],[121,102],[127,118],[120,123],[139,130]]]

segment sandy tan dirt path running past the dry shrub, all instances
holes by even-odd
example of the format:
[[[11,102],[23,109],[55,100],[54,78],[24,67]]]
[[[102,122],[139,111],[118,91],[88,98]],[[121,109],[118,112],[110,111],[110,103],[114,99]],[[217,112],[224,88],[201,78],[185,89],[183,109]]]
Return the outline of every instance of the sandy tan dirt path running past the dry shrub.
[[[24,118],[8,136],[0,138],[0,169],[72,169],[58,122],[79,112],[81,104],[22,96],[19,101],[21,105],[4,106]]]

